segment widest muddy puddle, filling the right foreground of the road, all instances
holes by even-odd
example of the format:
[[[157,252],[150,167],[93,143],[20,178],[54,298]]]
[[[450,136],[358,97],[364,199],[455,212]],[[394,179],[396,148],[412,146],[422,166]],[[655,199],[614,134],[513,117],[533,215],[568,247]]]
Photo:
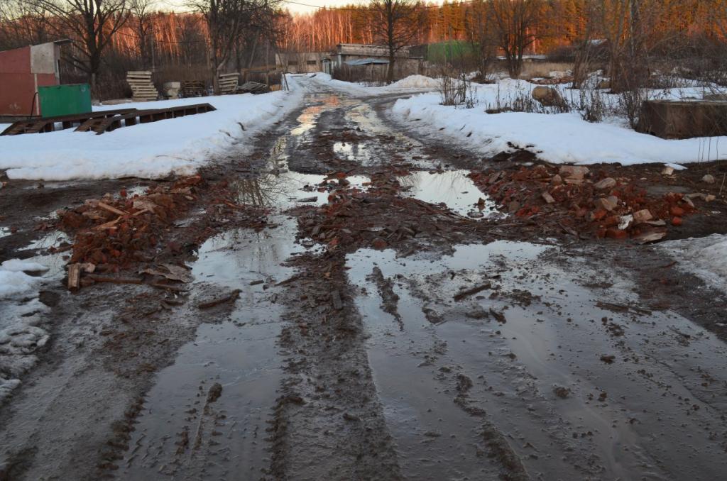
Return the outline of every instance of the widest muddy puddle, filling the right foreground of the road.
[[[720,479],[724,344],[670,312],[620,310],[635,302],[623,280],[591,291],[545,254],[557,251],[496,242],[348,256],[403,472],[494,479],[483,433],[497,428],[539,479]],[[374,267],[392,282],[395,315]]]

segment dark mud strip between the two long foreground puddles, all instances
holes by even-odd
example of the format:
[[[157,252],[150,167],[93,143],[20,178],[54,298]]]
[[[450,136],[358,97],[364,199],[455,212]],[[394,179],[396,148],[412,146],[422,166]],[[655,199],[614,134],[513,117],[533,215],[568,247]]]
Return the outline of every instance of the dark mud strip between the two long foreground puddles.
[[[403,479],[343,260],[342,254],[301,256],[299,275],[284,294],[287,378],[270,432],[271,479]]]

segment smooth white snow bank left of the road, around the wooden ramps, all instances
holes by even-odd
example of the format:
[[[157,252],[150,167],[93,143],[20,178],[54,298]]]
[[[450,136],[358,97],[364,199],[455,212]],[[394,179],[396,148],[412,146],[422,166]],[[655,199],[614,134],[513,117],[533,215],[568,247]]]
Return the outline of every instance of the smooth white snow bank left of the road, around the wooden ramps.
[[[292,86],[297,84],[292,81]],[[0,137],[0,169],[10,179],[158,178],[192,174],[210,158],[280,119],[302,100],[301,89],[105,105],[165,108],[209,102],[217,110],[124,127],[103,135],[73,132]]]

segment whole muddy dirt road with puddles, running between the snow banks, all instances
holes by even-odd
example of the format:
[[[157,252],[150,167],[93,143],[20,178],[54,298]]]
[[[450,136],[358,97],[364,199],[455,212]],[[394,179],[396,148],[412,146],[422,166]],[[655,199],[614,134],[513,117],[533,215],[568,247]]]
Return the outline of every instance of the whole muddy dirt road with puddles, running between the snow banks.
[[[724,477],[720,294],[654,247],[534,235],[467,177],[522,158],[408,132],[394,96],[305,81],[252,155],[201,172],[249,211],[190,209],[147,259],[187,283],[71,294],[48,251],[64,235],[33,231],[137,179],[45,185],[54,205],[9,214],[0,252],[52,269],[24,311],[49,341],[0,339],[0,372],[22,380],[0,479]]]

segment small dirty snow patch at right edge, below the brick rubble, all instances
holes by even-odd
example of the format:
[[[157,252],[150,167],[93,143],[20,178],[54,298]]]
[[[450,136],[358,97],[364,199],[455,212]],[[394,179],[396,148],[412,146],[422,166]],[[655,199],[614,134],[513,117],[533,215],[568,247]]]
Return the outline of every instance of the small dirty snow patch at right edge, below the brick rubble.
[[[727,293],[727,235],[667,241],[661,248],[674,257],[679,269],[691,272],[708,286]]]

